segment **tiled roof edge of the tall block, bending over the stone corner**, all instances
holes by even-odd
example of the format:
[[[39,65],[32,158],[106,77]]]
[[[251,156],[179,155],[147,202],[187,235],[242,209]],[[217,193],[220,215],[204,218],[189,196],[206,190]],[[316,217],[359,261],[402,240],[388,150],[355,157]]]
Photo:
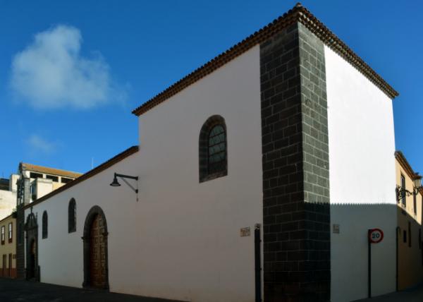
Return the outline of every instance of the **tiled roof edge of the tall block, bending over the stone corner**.
[[[276,32],[287,28],[289,25],[292,25],[295,22],[300,22],[305,25],[314,35],[317,35],[324,44],[333,49],[334,52],[352,64],[358,71],[365,75],[369,80],[379,87],[388,97],[392,99],[398,96],[398,92],[391,87],[386,81],[381,78],[369,65],[366,64],[352,49],[350,49],[347,44],[342,42],[338,37],[336,37],[329,28],[327,28],[323,23],[321,23],[312,13],[310,13],[307,8],[302,6],[300,3],[296,4],[292,9],[287,13],[284,13],[283,16],[280,16],[273,20],[268,25],[264,26],[260,30],[254,32],[252,35],[246,37],[244,40],[235,44],[233,47],[227,49],[225,52],[222,52],[214,59],[208,61],[206,64],[195,69],[188,75],[185,75],[184,78],[178,80],[173,85],[169,86],[156,96],[149,99],[147,102],[142,104],[140,107],[137,107],[132,111],[133,114],[140,116],[149,109],[157,106],[161,102],[164,102],[169,97],[176,95],[176,93],[182,91],[186,87],[190,86],[192,83],[197,82],[204,76],[209,75],[216,69],[235,59],[237,56],[240,56],[247,50],[251,49],[255,45],[264,42],[269,39],[269,37],[276,34]]]

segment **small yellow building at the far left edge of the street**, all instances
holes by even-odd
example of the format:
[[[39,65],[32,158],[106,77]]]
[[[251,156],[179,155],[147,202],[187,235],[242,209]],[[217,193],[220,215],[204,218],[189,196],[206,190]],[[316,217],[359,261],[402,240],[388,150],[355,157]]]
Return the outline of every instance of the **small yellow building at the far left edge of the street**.
[[[16,218],[0,220],[0,277],[16,278]]]

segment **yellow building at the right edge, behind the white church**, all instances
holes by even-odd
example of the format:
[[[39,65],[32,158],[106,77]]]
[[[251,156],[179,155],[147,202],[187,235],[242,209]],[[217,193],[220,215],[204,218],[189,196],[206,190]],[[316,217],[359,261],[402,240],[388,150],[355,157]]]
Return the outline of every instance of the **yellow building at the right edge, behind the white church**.
[[[397,151],[396,183],[398,205],[398,290],[423,282],[422,205],[423,190],[415,188],[415,180],[421,179]]]

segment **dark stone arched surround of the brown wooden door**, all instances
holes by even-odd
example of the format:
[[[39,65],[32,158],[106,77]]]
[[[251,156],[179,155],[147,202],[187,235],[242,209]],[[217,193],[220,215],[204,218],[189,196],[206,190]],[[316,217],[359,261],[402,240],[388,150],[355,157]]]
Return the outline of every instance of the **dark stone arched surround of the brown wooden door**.
[[[106,216],[104,215],[104,212],[102,210],[101,207],[99,207],[98,205],[94,205],[94,207],[92,207],[90,209],[90,211],[88,211],[87,217],[85,218],[85,224],[84,224],[84,236],[82,237],[82,241],[84,243],[84,248],[83,248],[83,253],[84,253],[84,282],[82,282],[82,287],[92,287],[91,286],[91,274],[90,274],[90,231],[91,231],[91,224],[92,221],[94,219],[94,217],[96,217],[97,215],[100,215],[103,219],[103,223],[104,223],[104,257],[105,262],[106,262],[106,282],[105,282],[105,286],[104,289],[109,290],[109,248],[108,248],[108,244],[107,244],[107,238],[109,236],[109,231],[107,231],[107,220],[106,220]]]

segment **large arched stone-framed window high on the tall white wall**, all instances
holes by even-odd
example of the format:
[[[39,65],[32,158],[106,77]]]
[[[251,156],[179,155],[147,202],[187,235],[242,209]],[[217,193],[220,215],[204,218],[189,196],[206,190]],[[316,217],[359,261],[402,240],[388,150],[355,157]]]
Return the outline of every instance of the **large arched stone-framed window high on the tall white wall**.
[[[228,175],[226,123],[223,117],[209,117],[200,131],[200,183]]]

